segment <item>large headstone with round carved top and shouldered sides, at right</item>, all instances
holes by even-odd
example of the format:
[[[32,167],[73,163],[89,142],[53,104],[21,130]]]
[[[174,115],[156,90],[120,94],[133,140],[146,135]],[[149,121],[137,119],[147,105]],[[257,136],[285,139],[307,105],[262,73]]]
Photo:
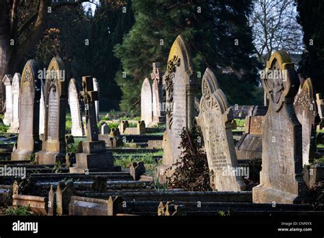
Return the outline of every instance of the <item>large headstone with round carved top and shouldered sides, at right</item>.
[[[260,185],[253,188],[254,203],[300,203],[305,198],[301,124],[293,106],[299,79],[286,51],[271,55],[262,73],[269,109],[262,123]]]

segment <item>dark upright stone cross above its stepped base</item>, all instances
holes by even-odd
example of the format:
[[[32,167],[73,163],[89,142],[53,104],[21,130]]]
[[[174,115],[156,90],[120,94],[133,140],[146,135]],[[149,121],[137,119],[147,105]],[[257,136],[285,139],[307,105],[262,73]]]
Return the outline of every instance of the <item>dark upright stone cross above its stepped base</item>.
[[[98,101],[98,92],[94,91],[94,82],[92,77],[82,77],[81,99],[85,105],[85,121],[87,122],[87,138],[90,142],[98,141],[98,127],[96,119],[96,105]]]

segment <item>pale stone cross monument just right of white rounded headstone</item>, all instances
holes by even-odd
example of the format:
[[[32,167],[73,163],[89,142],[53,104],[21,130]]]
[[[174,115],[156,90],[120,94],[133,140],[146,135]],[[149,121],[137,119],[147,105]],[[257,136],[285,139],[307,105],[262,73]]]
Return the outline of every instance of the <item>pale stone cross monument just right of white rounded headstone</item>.
[[[160,63],[153,63],[151,73],[152,85],[152,107],[153,107],[153,124],[165,122],[165,111],[163,111],[163,85],[162,75],[160,72]]]

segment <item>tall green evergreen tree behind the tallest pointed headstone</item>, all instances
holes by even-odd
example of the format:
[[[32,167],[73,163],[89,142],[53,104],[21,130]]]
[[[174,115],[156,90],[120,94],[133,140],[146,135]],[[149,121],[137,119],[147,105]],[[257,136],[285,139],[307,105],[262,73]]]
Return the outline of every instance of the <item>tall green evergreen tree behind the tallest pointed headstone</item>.
[[[139,110],[142,80],[152,62],[165,68],[178,34],[191,50],[195,71],[202,75],[206,66],[212,68],[230,103],[257,103],[258,63],[247,23],[251,6],[251,0],[134,1],[135,25],[115,50],[124,70],[116,75],[123,92],[120,107]]]

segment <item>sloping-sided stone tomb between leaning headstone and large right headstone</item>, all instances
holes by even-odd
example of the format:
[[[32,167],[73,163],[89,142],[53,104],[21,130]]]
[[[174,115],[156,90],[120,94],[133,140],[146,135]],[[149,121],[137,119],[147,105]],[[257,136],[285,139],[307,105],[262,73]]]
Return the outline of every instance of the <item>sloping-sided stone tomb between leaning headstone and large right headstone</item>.
[[[237,143],[237,159],[262,158],[262,120],[263,116],[247,116],[245,132]]]

